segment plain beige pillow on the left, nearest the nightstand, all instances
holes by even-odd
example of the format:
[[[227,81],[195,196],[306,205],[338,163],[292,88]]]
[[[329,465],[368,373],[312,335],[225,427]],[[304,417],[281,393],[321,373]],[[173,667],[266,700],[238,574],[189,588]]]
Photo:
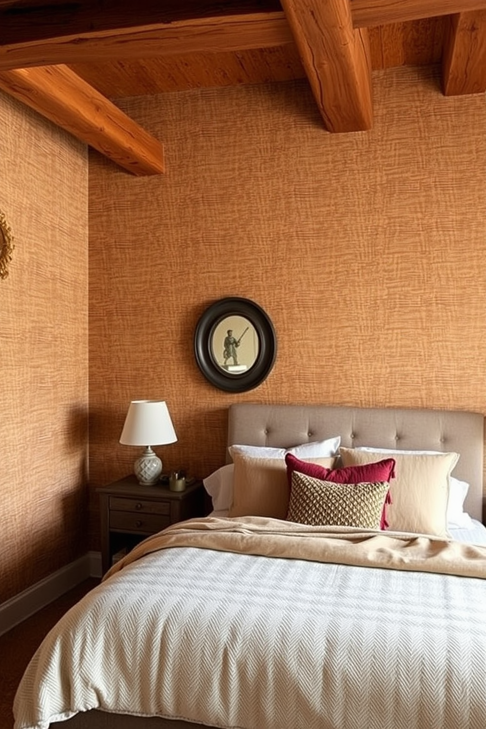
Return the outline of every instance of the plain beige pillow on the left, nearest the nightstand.
[[[305,459],[332,468],[336,459]],[[270,516],[285,519],[290,486],[283,459],[266,459],[234,453],[233,502],[229,516]]]

